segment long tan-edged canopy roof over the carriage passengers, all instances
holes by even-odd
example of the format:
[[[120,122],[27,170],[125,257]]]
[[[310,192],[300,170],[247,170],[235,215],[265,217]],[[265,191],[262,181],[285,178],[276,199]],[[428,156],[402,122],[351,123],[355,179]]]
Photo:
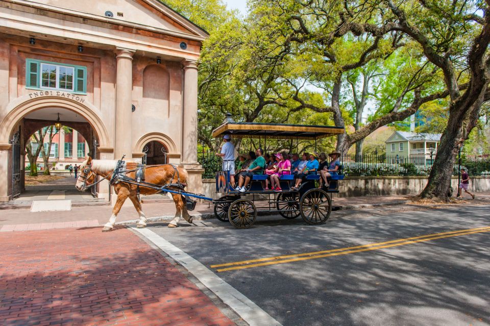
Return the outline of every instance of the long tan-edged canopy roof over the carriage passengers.
[[[344,134],[343,127],[307,126],[306,124],[283,124],[261,122],[225,122],[213,130],[213,137],[230,134],[235,138],[267,137],[274,139],[320,139]]]

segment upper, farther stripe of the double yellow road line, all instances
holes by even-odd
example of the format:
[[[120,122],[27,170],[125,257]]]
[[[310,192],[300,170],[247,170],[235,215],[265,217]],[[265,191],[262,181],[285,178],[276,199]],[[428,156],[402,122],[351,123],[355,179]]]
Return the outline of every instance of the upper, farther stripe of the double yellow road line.
[[[470,231],[483,230],[483,229],[490,229],[490,227],[481,227],[481,228],[475,228],[475,229],[457,230],[457,231],[449,231],[449,232],[442,232],[442,233],[426,234],[426,235],[423,235],[423,236],[417,236],[417,237],[411,237],[411,238],[396,239],[396,240],[390,240],[390,241],[385,241],[385,242],[377,242],[377,243],[371,243],[371,244],[363,244],[363,245],[357,245],[357,246],[346,247],[346,248],[321,250],[321,251],[318,251],[318,252],[311,252],[311,253],[304,253],[304,254],[292,254],[292,255],[283,255],[283,256],[275,256],[275,257],[266,257],[266,258],[259,258],[259,259],[244,260],[244,261],[233,262],[233,263],[211,265],[210,267],[211,268],[215,268],[215,267],[225,267],[225,266],[234,266],[234,265],[246,265],[246,264],[250,264],[250,263],[263,262],[263,261],[268,261],[268,260],[280,260],[280,259],[291,258],[291,257],[302,257],[302,256],[320,255],[320,254],[327,254],[327,253],[339,252],[339,251],[350,250],[350,249],[357,249],[357,248],[365,248],[365,247],[379,246],[379,245],[387,244],[387,243],[402,242],[402,241],[413,240],[413,239],[422,239],[422,238],[429,238],[429,237],[434,237],[434,236],[439,236],[439,235],[454,234],[454,233],[461,233],[461,232],[470,232]]]

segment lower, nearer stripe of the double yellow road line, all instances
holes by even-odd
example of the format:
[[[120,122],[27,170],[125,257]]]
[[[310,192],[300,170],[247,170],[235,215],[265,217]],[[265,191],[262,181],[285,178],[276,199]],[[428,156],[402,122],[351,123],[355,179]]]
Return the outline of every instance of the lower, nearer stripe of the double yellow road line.
[[[475,231],[472,231],[472,230],[475,230]],[[252,268],[252,267],[259,267],[259,266],[284,264],[284,263],[290,263],[290,262],[296,262],[296,261],[302,261],[302,260],[325,258],[325,257],[331,257],[331,256],[354,254],[354,253],[360,253],[360,252],[367,252],[370,250],[390,248],[390,247],[396,247],[396,246],[400,246],[400,245],[425,242],[425,241],[431,241],[431,240],[443,239],[443,238],[449,238],[449,237],[456,237],[456,236],[462,236],[462,235],[468,235],[468,234],[483,233],[483,232],[489,232],[489,231],[490,231],[490,227],[485,227],[485,228],[477,228],[477,229],[468,229],[468,230],[436,233],[436,234],[428,235],[428,236],[420,236],[420,237],[412,237],[412,238],[406,238],[406,239],[392,240],[392,241],[373,243],[373,244],[363,245],[363,246],[325,250],[324,252],[329,252],[328,254],[325,254],[325,255],[314,255],[314,256],[309,256],[309,257],[300,257],[300,258],[294,258],[294,259],[283,259],[283,260],[269,261],[269,262],[258,263],[258,264],[249,264],[249,265],[244,265],[244,266],[234,266],[234,267],[217,269],[216,271],[222,272],[222,271],[227,271],[227,270],[245,269],[245,268]],[[425,237],[425,238],[423,238],[423,237]],[[410,240],[410,239],[412,239],[412,240]],[[400,242],[400,241],[402,241],[402,242]],[[395,242],[395,243],[393,243],[393,242]],[[382,245],[382,244],[386,244],[386,243],[390,243],[390,244]],[[354,249],[354,248],[357,248],[357,249]],[[311,253],[309,253],[309,254],[311,255]],[[300,254],[300,255],[304,256],[306,254]],[[288,256],[284,256],[284,257],[299,257],[300,255],[288,255]],[[279,257],[281,257],[281,256],[279,256]],[[239,262],[239,263],[243,263],[243,262]],[[216,265],[212,265],[211,267],[213,267],[213,266],[216,266]]]

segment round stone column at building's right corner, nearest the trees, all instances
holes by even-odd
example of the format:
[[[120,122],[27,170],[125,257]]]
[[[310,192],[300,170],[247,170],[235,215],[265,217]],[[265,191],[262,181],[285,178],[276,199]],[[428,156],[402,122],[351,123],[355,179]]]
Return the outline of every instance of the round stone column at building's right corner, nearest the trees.
[[[198,65],[184,60],[184,108],[182,116],[182,163],[198,161]]]

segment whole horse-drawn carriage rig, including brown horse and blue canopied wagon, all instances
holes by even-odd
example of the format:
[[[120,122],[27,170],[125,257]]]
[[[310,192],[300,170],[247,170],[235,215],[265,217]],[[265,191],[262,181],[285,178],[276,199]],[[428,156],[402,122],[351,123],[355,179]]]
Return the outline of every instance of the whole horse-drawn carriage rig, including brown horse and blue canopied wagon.
[[[253,123],[253,122],[225,122],[213,131],[214,137],[231,134],[235,138],[259,138],[264,144],[269,139],[307,139],[316,140],[344,133],[341,127],[302,126],[295,124]],[[316,149],[316,148],[315,148]],[[320,175],[308,174],[299,189],[291,189],[290,182],[293,175],[282,175],[280,179],[281,192],[266,190],[263,182],[267,175],[256,174],[252,178],[247,192],[235,191],[230,186],[228,171],[216,173],[216,192],[224,196],[213,199],[203,194],[196,194],[185,190],[187,172],[173,164],[144,166],[133,161],[124,161],[124,156],[118,160],[92,160],[87,158],[82,163],[82,171],[77,180],[76,188],[84,191],[104,180],[114,187],[117,200],[109,221],[104,224],[102,231],[114,228],[116,216],[122,204],[130,198],[138,212],[140,219],[138,228],[146,226],[146,217],[141,208],[140,194],[170,193],[176,204],[176,215],[168,224],[169,228],[176,228],[181,215],[192,223],[192,216],[188,211],[195,207],[192,198],[207,200],[214,205],[214,214],[221,221],[230,221],[238,229],[250,228],[257,218],[257,212],[278,212],[287,219],[301,217],[308,224],[325,222],[332,211],[332,193],[338,192],[338,181],[344,175],[332,175],[329,187],[318,189]],[[146,172],[145,172],[146,171]],[[96,181],[97,177],[102,177]]]

